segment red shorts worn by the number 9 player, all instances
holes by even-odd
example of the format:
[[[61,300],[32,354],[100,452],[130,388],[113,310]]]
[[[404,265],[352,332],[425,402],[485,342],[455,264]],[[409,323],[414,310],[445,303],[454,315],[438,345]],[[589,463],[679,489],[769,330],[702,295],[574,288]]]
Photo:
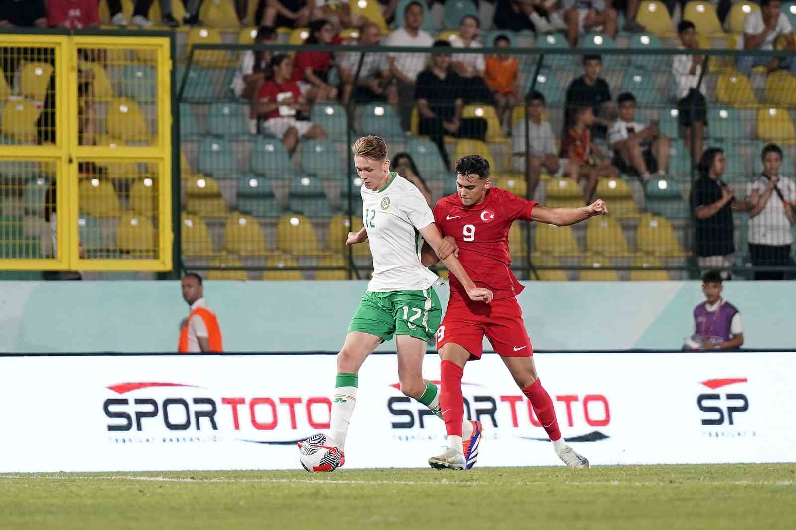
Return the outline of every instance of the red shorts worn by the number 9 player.
[[[448,342],[470,352],[470,360],[482,354],[484,335],[492,349],[501,357],[531,357],[533,346],[522,321],[517,298],[493,300],[490,304],[468,306],[463,300],[451,298],[443,323],[437,330],[437,349]]]

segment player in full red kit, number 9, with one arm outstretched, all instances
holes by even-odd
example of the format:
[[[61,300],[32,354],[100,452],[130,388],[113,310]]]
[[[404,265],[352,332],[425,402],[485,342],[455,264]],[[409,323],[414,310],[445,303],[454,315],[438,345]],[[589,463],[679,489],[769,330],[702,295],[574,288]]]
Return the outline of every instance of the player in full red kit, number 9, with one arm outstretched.
[[[489,162],[478,155],[459,158],[455,171],[458,192],[437,203],[435,221],[443,236],[455,240],[455,252],[467,275],[476,286],[491,290],[494,296],[490,304],[472,302],[461,284],[450,279],[451,299],[437,331],[437,349],[442,357],[440,406],[450,447],[428,463],[440,469],[470,469],[478,454],[480,431],[466,441],[469,443],[465,442],[462,451],[461,385],[464,365],[481,358],[486,335],[522,393],[528,396],[558,457],[567,466],[588,467],[587,459],[562,438],[552,400],[537,376],[533,346],[515,298],[524,287],[509,268],[509,228],[517,219],[566,226],[607,214],[608,209],[603,201],[582,208],[545,208],[505,189],[492,188]],[[438,256],[431,247],[424,246],[422,260],[428,267],[437,262]]]

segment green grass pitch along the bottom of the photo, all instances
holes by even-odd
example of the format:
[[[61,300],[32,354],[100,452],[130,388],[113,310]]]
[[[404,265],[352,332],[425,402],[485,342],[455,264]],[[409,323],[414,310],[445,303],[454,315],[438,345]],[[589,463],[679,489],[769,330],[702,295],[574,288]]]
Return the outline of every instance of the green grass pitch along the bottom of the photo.
[[[796,528],[796,465],[0,474],[0,528]]]

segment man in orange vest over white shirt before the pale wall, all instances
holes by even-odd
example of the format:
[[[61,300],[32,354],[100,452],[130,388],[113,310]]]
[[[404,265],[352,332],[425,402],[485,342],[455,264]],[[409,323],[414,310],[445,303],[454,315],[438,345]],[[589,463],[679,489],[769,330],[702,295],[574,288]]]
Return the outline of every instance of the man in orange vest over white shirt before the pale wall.
[[[188,318],[180,325],[179,353],[223,352],[221,329],[213,310],[207,306],[201,276],[190,273],[181,281],[182,299],[188,302]]]

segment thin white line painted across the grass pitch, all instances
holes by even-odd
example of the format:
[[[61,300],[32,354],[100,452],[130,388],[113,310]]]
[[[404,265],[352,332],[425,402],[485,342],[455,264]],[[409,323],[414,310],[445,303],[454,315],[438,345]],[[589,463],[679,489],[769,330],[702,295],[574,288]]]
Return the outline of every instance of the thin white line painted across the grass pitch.
[[[513,483],[501,481],[452,481],[443,478],[437,481],[368,481],[368,480],[345,480],[345,479],[314,479],[314,478],[180,478],[162,476],[141,476],[141,475],[92,475],[70,477],[66,475],[4,475],[3,479],[45,479],[45,480],[71,480],[71,481],[144,481],[144,482],[183,482],[194,484],[347,484],[347,485],[455,485],[455,486],[482,486],[482,485],[517,485],[517,486],[549,486],[556,484],[555,481],[517,481]],[[796,481],[563,481],[560,485],[571,486],[681,486],[681,485],[706,485],[706,486],[792,486]]]

